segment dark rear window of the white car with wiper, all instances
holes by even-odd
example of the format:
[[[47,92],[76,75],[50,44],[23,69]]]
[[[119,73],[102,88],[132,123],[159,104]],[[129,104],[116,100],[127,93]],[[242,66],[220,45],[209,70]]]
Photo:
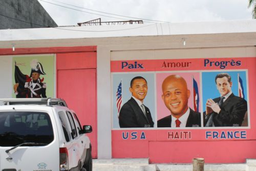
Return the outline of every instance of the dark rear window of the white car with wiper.
[[[47,113],[0,112],[0,146],[16,146],[25,142],[33,146],[47,145],[53,139],[52,122]]]

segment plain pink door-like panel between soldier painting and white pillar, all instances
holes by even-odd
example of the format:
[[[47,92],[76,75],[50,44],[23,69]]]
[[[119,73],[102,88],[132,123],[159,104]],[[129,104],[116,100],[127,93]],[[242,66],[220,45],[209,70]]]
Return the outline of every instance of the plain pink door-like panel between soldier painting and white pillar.
[[[81,125],[92,125],[88,134],[92,156],[97,158],[96,52],[57,54],[57,97],[63,98]]]

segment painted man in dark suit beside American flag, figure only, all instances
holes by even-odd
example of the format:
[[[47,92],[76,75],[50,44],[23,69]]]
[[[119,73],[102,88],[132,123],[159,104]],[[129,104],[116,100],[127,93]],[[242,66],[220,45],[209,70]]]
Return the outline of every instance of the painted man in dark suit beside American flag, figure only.
[[[145,78],[138,76],[131,80],[132,98],[123,104],[119,113],[120,127],[154,127],[150,110],[143,104],[147,94]]]

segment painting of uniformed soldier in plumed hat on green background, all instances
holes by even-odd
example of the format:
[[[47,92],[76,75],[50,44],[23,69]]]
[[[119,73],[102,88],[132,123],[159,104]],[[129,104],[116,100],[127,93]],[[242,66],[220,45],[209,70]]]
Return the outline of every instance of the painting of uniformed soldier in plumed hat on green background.
[[[54,97],[54,56],[13,57],[13,97]]]

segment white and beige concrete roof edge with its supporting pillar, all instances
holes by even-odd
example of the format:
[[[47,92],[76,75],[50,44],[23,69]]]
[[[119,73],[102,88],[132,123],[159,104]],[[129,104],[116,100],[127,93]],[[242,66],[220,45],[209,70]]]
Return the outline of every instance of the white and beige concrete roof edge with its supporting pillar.
[[[255,20],[142,26],[0,30],[0,47],[97,46],[98,158],[105,159],[112,157],[111,60],[169,58],[170,54],[178,58],[256,56]],[[0,73],[0,98],[10,98],[11,55],[0,56]]]

